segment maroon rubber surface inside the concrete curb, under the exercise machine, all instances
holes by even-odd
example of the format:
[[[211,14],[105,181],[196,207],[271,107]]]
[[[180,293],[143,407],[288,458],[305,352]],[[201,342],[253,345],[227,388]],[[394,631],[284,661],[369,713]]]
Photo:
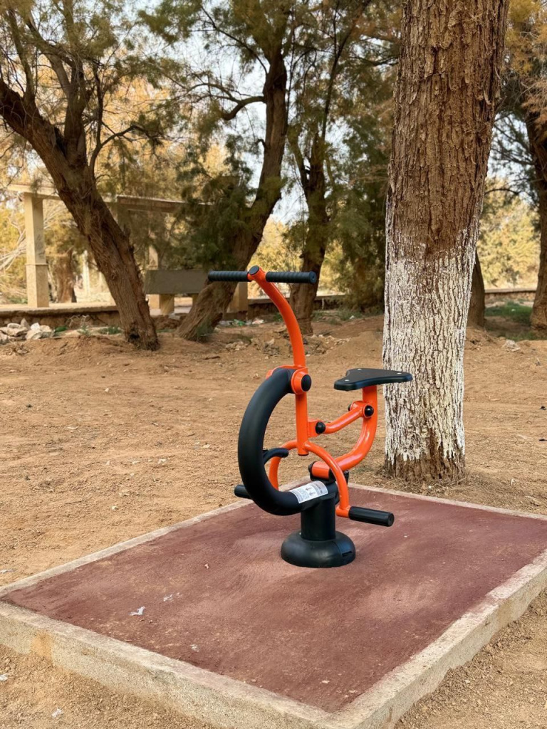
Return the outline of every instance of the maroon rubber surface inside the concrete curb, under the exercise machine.
[[[285,564],[298,517],[251,504],[4,599],[334,711],[547,548],[546,521],[402,494],[352,499],[396,521],[338,519],[357,546],[349,566]]]

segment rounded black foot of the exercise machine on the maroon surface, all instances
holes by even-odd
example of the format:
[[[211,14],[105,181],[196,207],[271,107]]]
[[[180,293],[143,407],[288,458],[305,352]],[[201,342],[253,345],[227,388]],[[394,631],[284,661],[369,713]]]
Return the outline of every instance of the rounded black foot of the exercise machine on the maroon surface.
[[[335,534],[334,539],[319,542],[303,539],[300,531],[295,531],[282,544],[282,558],[297,567],[342,567],[349,564],[355,559],[355,545],[341,531]]]

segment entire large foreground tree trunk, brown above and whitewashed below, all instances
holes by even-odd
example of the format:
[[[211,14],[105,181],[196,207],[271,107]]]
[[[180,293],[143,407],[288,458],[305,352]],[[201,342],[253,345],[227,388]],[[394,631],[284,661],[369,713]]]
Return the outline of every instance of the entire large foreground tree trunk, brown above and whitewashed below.
[[[387,197],[387,473],[465,469],[465,324],[503,61],[507,0],[408,0]]]

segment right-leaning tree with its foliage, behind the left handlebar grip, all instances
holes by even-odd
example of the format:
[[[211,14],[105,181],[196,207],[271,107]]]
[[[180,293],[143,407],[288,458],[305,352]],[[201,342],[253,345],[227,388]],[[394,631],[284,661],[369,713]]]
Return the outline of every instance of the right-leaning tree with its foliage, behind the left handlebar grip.
[[[184,76],[176,74],[173,80],[197,119],[202,144],[216,142],[217,132],[228,152],[230,173],[212,179],[208,204],[203,206],[203,200],[190,190],[187,200],[197,203],[193,241],[206,253],[203,259],[214,260],[216,268],[247,268],[281,198],[287,135],[286,60],[298,26],[294,6],[289,0],[203,1],[189,15],[187,2],[165,0],[154,14],[143,14],[150,28],[167,40],[190,32],[201,39],[203,53],[198,63],[194,49]],[[187,48],[180,52],[190,55]],[[249,121],[254,105],[263,111],[263,124]],[[253,133],[256,123],[263,134]],[[236,133],[232,133],[234,129]],[[260,150],[257,182],[245,159],[253,150],[255,155]],[[201,158],[203,147],[189,155],[187,175],[203,173]],[[234,284],[206,284],[182,322],[180,334],[195,339],[212,330],[228,308],[234,289]]]

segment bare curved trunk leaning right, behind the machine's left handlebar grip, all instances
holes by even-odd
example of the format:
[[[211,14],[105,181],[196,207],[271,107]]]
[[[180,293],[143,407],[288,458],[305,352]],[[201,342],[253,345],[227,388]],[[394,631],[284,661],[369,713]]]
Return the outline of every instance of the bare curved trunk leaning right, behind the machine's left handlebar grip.
[[[281,198],[282,161],[287,137],[287,69],[281,47],[271,58],[263,95],[266,112],[263,164],[255,200],[245,211],[241,233],[230,246],[236,270],[247,269],[262,240],[268,218]],[[230,305],[235,290],[236,284],[203,286],[190,313],[179,327],[179,335],[195,340],[214,330]]]

